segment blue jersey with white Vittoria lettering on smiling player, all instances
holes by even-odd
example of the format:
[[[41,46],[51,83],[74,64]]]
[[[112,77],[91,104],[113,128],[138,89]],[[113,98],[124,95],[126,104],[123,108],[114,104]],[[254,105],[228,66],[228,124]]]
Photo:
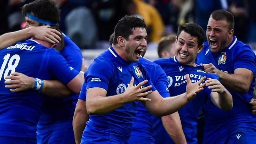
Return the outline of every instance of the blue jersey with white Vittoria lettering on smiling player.
[[[216,75],[205,73],[200,65],[189,66],[180,64],[175,56],[173,58],[158,59],[154,63],[160,65],[167,75],[170,96],[177,96],[186,92],[186,74],[189,74],[192,83],[196,83],[204,76],[206,76],[206,79],[218,79]],[[210,94],[211,89],[204,87],[202,92],[199,92],[193,100],[178,111],[182,129],[189,144],[197,144],[197,118],[206,100],[211,99]]]

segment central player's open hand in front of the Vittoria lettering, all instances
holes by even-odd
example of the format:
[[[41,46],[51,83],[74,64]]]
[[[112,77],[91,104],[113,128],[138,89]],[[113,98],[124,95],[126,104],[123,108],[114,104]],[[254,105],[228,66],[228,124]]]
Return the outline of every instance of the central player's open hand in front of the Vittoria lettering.
[[[204,76],[203,78],[201,78],[199,81],[197,81],[197,83],[191,83],[190,78],[188,76],[188,74],[186,74],[186,80],[187,80],[187,87],[186,87],[186,94],[187,94],[187,100],[192,100],[193,98],[195,98],[195,95],[202,91],[204,88],[204,86],[206,85],[206,83],[203,83],[202,85],[200,85],[204,79],[206,77]]]

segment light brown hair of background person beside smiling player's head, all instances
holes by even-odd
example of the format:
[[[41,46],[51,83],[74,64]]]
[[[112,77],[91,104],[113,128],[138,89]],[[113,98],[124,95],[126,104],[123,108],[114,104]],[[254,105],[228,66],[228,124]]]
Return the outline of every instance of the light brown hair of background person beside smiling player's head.
[[[167,35],[166,37],[162,37],[158,42],[157,52],[159,57],[163,57],[162,52],[164,50],[169,50],[169,45],[175,42],[176,35]]]

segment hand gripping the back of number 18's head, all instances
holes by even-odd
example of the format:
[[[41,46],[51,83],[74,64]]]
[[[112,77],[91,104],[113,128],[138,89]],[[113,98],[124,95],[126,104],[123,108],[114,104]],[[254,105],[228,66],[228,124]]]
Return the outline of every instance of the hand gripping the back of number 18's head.
[[[48,41],[52,44],[61,41],[61,33],[58,30],[50,28],[50,26],[31,27],[33,29],[33,37],[43,41]]]

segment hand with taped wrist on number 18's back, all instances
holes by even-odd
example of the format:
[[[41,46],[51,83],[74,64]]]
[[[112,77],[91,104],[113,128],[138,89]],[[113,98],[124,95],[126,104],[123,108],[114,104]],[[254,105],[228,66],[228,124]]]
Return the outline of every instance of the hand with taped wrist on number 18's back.
[[[5,87],[10,89],[11,92],[21,92],[28,89],[33,89],[34,78],[26,76],[19,72],[13,72],[10,76],[6,76],[6,80],[4,83]]]

